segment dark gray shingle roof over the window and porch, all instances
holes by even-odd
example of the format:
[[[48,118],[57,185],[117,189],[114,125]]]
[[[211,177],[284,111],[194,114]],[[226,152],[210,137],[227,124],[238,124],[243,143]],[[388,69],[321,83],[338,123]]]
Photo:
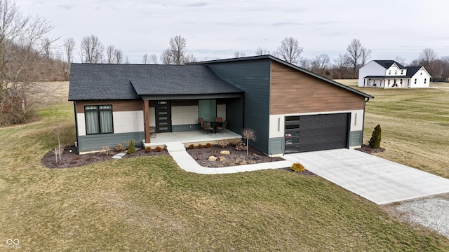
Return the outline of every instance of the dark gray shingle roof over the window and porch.
[[[72,64],[69,100],[243,92],[203,65]]]

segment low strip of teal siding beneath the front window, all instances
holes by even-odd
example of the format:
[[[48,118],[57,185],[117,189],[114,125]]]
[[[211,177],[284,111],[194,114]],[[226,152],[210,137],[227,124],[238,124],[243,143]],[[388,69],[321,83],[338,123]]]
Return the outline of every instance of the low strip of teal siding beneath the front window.
[[[102,146],[114,148],[117,144],[123,144],[123,141],[125,141],[126,146],[128,146],[131,139],[133,139],[135,145],[142,146],[142,139],[145,139],[145,132],[79,136],[78,151],[98,151],[102,149]]]

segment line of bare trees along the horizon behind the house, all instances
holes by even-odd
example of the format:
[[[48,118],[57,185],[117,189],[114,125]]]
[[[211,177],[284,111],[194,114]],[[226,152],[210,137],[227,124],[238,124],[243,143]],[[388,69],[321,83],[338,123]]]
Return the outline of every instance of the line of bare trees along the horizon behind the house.
[[[36,81],[69,80],[70,64],[77,51],[83,63],[127,64],[123,51],[114,45],[103,45],[95,35],[84,36],[76,50],[74,38],[49,38],[53,25],[44,18],[23,15],[13,0],[0,1],[0,125],[25,123],[35,116],[35,109],[44,97]],[[357,78],[358,69],[371,57],[371,50],[354,38],[333,63],[322,53],[313,58],[302,57],[304,48],[293,37],[284,38],[271,53],[290,64],[327,78]],[[268,55],[266,48],[257,48],[254,55]],[[245,57],[235,51],[234,57]],[[203,60],[206,60],[204,58]],[[406,64],[396,56],[396,62]],[[142,55],[142,64],[187,64],[196,62],[194,53],[187,50],[187,41],[180,35],[170,38],[168,48],[157,55]],[[425,48],[409,65],[422,65],[434,79],[448,80],[449,56],[438,57]]]

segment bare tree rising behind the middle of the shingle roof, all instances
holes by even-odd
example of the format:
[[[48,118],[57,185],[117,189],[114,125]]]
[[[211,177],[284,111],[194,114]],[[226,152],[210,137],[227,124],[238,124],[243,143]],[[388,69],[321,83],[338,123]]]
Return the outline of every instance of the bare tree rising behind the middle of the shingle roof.
[[[194,59],[193,54],[187,57],[187,41],[180,35],[170,38],[170,47],[162,52],[163,64],[185,64]]]

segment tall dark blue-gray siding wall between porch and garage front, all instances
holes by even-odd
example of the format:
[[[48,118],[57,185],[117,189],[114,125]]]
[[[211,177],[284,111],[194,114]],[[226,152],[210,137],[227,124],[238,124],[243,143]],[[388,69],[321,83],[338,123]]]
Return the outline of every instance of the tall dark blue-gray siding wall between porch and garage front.
[[[243,127],[253,129],[257,135],[257,141],[250,146],[268,153],[270,60],[217,62],[208,66],[217,76],[245,91]],[[241,132],[232,123],[229,123],[229,127],[235,132]]]

